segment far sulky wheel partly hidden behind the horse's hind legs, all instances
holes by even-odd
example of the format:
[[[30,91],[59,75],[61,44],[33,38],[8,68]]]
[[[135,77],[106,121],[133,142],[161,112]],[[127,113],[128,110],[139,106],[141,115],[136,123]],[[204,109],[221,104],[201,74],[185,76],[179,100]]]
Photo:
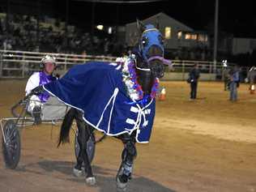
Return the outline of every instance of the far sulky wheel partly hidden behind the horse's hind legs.
[[[75,134],[75,157],[76,158],[79,156],[79,151],[80,151],[77,135],[78,133]],[[95,153],[95,136],[92,133],[90,136],[90,139],[87,141],[87,155],[90,163],[92,163],[94,153]]]

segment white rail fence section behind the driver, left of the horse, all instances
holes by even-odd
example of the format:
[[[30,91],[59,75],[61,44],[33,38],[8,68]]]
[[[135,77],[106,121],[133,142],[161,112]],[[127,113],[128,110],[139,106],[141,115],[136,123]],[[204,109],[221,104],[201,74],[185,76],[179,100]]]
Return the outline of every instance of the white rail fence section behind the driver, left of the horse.
[[[39,63],[46,54],[57,60],[57,71],[65,72],[71,66],[89,61],[113,62],[116,58],[109,56],[92,56],[66,53],[38,53],[28,51],[0,50],[0,77],[26,78],[34,71],[40,70]]]

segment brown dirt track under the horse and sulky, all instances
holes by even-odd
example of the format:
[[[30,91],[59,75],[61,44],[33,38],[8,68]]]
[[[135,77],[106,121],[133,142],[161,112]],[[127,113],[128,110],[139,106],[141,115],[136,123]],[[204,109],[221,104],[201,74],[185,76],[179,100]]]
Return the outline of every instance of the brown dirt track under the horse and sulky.
[[[231,103],[222,83],[200,83],[199,99],[190,101],[185,82],[161,83],[167,100],[157,102],[149,144],[139,156],[128,191],[256,191],[256,95],[247,85]],[[0,81],[0,117],[23,96],[23,81]],[[56,148],[58,127],[22,130],[22,156],[15,170],[0,156],[0,191],[116,191],[114,177],[122,143],[97,144],[93,171],[96,186],[72,176],[74,143]],[[74,135],[72,134],[71,137]]]

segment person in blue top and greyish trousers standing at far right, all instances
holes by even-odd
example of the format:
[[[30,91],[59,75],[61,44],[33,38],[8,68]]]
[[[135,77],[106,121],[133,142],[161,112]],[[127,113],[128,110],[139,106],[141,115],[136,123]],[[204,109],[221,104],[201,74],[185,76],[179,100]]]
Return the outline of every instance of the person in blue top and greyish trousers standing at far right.
[[[234,66],[229,72],[230,75],[230,96],[229,100],[237,101],[237,87],[239,87],[239,68]]]

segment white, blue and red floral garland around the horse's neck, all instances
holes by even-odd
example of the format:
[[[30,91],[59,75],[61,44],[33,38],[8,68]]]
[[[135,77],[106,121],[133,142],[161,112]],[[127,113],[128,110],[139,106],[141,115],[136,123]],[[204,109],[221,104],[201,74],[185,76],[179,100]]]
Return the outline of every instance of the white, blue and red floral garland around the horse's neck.
[[[144,96],[143,88],[138,83],[135,71],[134,58],[122,60],[122,80],[126,84],[126,90],[131,100],[144,100],[149,96]],[[152,87],[150,98],[154,99],[159,89],[159,79],[156,78]]]

